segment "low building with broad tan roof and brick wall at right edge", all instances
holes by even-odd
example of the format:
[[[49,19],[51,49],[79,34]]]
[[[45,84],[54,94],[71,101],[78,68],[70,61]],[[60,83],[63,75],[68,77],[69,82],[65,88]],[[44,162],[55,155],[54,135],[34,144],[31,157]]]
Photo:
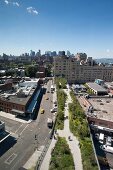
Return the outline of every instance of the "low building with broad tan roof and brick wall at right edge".
[[[90,124],[113,131],[113,98],[89,98],[87,117]],[[90,109],[92,108],[92,109]]]

